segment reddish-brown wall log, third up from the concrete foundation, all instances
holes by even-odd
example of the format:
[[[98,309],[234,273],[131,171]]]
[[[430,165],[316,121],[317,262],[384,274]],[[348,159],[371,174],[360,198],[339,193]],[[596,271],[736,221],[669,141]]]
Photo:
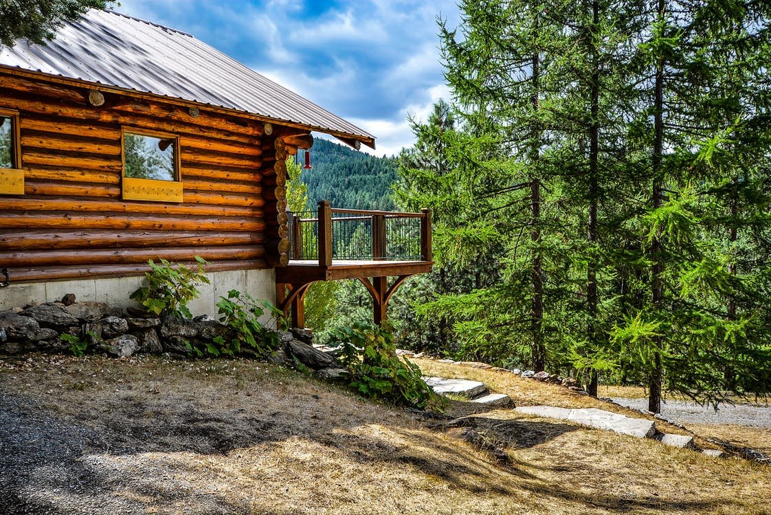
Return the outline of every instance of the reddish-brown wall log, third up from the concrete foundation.
[[[69,248],[222,247],[264,243],[254,232],[192,231],[5,231],[0,251],[62,250]]]

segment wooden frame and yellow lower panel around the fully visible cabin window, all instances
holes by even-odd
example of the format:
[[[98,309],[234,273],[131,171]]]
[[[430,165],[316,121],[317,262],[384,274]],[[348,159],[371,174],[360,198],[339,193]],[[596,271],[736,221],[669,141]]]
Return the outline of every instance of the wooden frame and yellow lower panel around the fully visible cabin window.
[[[160,140],[172,140],[174,179],[142,179],[139,177],[126,177],[126,134],[135,136],[147,136]],[[182,187],[182,157],[180,136],[173,133],[164,133],[158,130],[147,130],[140,127],[120,127],[120,189],[123,200],[148,200],[153,202],[183,201]]]

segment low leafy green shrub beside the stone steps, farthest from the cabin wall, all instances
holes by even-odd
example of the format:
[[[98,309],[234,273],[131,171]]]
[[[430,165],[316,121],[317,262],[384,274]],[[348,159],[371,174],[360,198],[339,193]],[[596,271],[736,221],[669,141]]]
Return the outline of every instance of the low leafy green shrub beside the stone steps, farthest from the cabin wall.
[[[423,381],[418,366],[396,355],[389,328],[357,323],[333,332],[330,343],[341,349],[340,361],[362,396],[399,406],[442,407],[442,399]]]

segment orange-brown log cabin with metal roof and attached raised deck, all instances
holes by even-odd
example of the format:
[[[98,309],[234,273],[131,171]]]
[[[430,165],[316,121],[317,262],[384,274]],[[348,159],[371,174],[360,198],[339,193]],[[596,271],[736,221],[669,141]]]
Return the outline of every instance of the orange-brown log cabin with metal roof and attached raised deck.
[[[126,307],[146,262],[209,262],[190,308],[216,316],[236,288],[303,325],[314,281],[359,278],[375,321],[431,268],[430,213],[336,209],[296,220],[314,255],[291,258],[285,160],[311,132],[355,147],[374,137],[193,36],[91,10],[46,45],[0,52],[0,309],[56,301]],[[340,260],[338,216],[369,220],[372,253]],[[389,259],[388,220],[419,220],[419,253]],[[307,254],[307,253],[306,253]],[[393,279],[389,282],[389,276]]]

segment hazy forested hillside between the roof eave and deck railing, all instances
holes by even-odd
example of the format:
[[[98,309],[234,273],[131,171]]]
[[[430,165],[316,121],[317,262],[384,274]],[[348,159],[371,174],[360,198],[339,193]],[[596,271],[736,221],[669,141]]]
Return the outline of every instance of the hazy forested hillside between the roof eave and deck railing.
[[[300,159],[305,156],[300,152]],[[303,170],[308,186],[308,207],[329,200],[333,207],[392,210],[391,185],[396,181],[396,160],[357,152],[348,146],[317,138],[311,149],[313,170]]]

